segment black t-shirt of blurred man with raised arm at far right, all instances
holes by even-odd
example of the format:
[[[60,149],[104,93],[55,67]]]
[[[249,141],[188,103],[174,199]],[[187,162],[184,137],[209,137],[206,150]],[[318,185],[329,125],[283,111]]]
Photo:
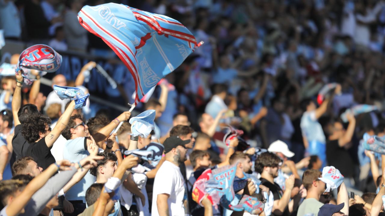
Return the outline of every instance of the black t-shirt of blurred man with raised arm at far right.
[[[338,145],[338,140],[326,141],[326,160],[330,166],[340,170],[345,177],[353,177],[354,162],[348,150]]]

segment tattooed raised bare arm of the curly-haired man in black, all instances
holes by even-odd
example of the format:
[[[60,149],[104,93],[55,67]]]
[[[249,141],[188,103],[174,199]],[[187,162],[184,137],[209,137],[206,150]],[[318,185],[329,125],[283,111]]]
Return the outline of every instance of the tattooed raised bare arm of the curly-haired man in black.
[[[65,109],[62,116],[60,116],[59,120],[57,120],[57,124],[55,125],[54,129],[49,133],[49,135],[45,136],[45,144],[48,148],[51,148],[52,145],[54,145],[55,141],[59,136],[62,134],[64,129],[67,127],[68,122],[71,118],[72,112],[75,108],[75,101],[71,101],[70,105]]]

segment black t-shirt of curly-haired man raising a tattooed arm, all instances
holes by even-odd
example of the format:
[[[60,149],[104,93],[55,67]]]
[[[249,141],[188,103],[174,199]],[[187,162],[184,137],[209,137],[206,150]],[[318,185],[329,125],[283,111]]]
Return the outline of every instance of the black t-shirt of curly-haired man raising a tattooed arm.
[[[30,146],[27,150],[27,156],[31,156],[35,162],[44,170],[47,169],[49,165],[55,163],[55,158],[51,154],[51,148],[48,148],[47,144],[45,144],[44,137],[37,143],[30,143]]]

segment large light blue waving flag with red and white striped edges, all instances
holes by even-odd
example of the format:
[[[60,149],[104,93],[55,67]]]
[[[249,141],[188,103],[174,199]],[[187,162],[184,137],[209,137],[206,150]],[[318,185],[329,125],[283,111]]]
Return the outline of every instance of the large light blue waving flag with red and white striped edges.
[[[127,66],[135,80],[136,104],[203,43],[177,20],[123,4],[87,5],[78,19]]]

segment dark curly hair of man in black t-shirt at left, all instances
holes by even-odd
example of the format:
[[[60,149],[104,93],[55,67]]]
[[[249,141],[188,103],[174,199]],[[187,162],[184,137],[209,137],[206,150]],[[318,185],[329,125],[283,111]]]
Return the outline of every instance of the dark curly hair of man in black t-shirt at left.
[[[51,119],[42,114],[33,114],[27,117],[22,125],[22,135],[28,143],[39,140],[39,133],[45,133],[45,126],[51,124]]]

